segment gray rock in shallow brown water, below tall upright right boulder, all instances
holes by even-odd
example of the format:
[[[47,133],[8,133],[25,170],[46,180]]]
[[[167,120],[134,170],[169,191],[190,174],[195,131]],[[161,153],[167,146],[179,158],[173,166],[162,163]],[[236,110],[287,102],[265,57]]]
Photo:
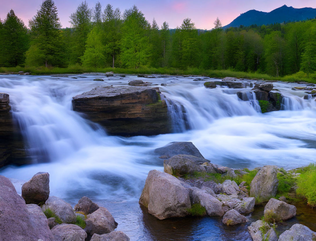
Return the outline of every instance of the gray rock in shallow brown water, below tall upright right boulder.
[[[296,207],[271,198],[264,207],[264,215],[273,213],[278,221],[288,220],[296,215]]]

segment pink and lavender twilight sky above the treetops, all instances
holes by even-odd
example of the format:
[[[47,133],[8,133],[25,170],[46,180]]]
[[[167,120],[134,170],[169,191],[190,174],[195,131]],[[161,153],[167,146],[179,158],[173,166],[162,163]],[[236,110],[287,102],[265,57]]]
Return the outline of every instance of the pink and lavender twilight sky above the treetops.
[[[251,9],[269,12],[286,4],[294,8],[312,7],[316,8],[315,0],[99,0],[104,8],[110,3],[114,8],[119,7],[121,12],[135,4],[149,22],[153,18],[158,25],[164,21],[169,23],[170,28],[181,25],[184,18],[190,17],[199,29],[211,29],[216,17],[227,25],[239,14]],[[58,15],[63,27],[70,27],[69,16],[74,12],[82,0],[55,0]],[[87,0],[90,8],[94,7],[97,0]],[[10,9],[21,18],[27,25],[28,20],[36,14],[42,0],[0,0],[0,18],[4,20]]]

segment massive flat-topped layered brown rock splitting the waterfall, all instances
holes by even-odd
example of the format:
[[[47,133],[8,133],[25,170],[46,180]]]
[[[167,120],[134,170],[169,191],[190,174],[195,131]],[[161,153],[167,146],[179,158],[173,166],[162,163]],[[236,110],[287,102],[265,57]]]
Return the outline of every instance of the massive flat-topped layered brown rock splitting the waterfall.
[[[167,104],[159,89],[145,86],[106,86],[73,97],[75,111],[106,127],[110,135],[170,133]]]

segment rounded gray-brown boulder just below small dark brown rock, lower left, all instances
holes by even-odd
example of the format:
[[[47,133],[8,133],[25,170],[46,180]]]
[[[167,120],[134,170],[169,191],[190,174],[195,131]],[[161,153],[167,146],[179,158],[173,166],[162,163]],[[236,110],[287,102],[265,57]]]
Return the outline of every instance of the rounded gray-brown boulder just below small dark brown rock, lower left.
[[[84,231],[91,236],[94,233],[104,234],[114,231],[117,225],[111,213],[106,208],[99,207],[92,214],[87,215]]]

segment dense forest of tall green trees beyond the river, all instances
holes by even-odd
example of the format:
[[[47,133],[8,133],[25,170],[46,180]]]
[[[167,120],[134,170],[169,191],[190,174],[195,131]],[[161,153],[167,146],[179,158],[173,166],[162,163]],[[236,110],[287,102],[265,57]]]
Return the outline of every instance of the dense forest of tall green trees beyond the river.
[[[232,69],[284,76],[316,71],[316,20],[199,30],[190,18],[176,29],[150,23],[134,5],[121,13],[107,4],[82,2],[61,28],[45,0],[28,28],[11,9],[0,20],[0,66]]]

